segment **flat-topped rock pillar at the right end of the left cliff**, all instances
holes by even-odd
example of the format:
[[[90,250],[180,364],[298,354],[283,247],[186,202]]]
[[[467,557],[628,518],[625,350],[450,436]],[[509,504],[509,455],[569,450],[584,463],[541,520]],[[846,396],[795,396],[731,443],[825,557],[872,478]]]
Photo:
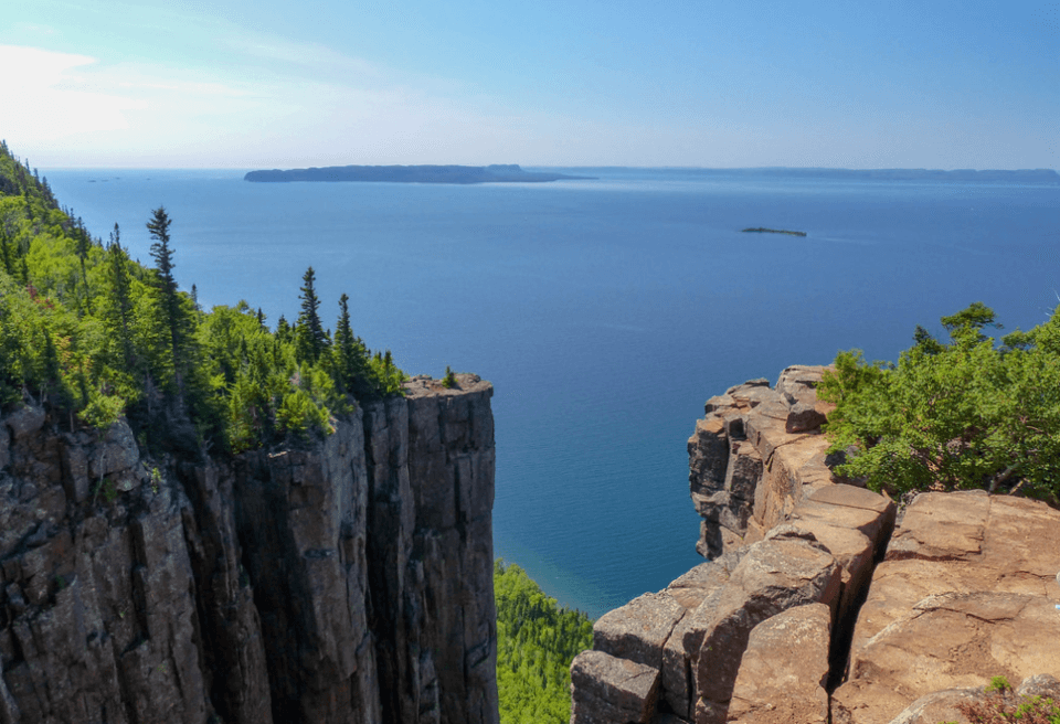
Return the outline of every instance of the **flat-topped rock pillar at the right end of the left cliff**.
[[[421,717],[496,724],[492,386],[457,375],[454,388],[406,385],[409,480],[415,500],[409,573],[422,585]],[[438,716],[423,711],[436,678]]]

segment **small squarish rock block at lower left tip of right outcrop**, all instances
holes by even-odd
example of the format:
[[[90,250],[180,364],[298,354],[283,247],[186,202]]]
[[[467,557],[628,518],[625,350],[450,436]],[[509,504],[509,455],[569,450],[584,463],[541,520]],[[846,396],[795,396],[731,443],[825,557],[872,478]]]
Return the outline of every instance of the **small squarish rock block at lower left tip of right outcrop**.
[[[659,694],[659,670],[603,651],[571,662],[571,724],[647,724]]]

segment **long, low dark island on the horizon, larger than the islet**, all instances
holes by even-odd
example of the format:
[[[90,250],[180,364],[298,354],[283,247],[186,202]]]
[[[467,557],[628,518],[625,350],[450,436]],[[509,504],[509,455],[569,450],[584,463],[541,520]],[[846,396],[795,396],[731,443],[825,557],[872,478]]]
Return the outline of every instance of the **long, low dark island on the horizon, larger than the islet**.
[[[251,171],[244,181],[385,181],[390,183],[545,183],[592,179],[587,175],[523,171],[515,163],[494,166],[328,166],[280,171]]]

